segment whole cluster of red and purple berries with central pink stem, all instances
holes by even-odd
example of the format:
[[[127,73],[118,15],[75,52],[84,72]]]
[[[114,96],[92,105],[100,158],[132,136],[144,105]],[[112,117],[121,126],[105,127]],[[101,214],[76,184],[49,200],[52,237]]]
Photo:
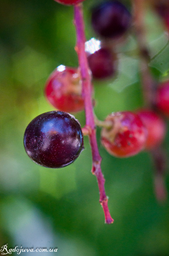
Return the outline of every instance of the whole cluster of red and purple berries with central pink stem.
[[[158,87],[153,108],[145,108],[135,113],[113,112],[105,121],[96,119],[94,123],[91,73],[97,79],[108,78],[116,73],[117,57],[113,44],[127,32],[132,17],[127,8],[118,1],[104,2],[95,7],[92,10],[92,26],[101,42],[99,41],[97,49],[90,51],[84,47],[82,4],[79,4],[81,1],[56,1],[75,5],[76,49],[80,66],[72,68],[60,65],[49,76],[45,85],[45,96],[57,111],[43,113],[29,123],[24,134],[24,147],[28,156],[37,164],[60,168],[77,159],[83,150],[83,134],[89,135],[93,158],[92,172],[98,179],[105,221],[110,224],[113,220],[104,191],[95,124],[103,127],[101,143],[113,156],[129,157],[144,149],[157,148],[165,136],[165,122],[154,109],[169,116],[169,82],[163,82]],[[74,116],[66,113],[82,110],[86,112],[86,126],[83,129]]]

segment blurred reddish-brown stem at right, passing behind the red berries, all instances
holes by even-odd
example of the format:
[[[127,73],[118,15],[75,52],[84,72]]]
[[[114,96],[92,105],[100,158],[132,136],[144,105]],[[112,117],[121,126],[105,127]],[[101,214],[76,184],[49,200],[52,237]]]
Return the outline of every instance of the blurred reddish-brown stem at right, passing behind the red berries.
[[[135,34],[140,54],[140,68],[142,78],[142,88],[144,94],[144,101],[147,108],[154,111],[154,99],[156,96],[156,82],[152,78],[149,69],[150,53],[147,48],[146,41],[146,29],[144,23],[145,17],[145,0],[133,0],[133,13],[134,13],[134,26]],[[155,58],[155,57],[153,57]],[[155,194],[158,201],[164,201],[167,197],[167,190],[164,182],[166,158],[165,153],[161,146],[150,151],[154,165],[155,165],[155,177],[154,187]]]

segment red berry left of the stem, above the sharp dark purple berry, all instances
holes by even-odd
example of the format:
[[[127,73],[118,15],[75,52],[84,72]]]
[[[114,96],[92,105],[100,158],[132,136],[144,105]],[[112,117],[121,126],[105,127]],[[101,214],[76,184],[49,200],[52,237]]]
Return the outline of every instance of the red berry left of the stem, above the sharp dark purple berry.
[[[84,109],[82,85],[79,72],[75,68],[59,67],[49,76],[45,85],[47,100],[58,110],[78,112]]]

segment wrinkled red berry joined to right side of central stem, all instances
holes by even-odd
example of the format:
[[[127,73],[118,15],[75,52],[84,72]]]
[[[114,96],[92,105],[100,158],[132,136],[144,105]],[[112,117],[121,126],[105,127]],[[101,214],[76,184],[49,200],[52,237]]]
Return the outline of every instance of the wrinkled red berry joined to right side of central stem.
[[[109,154],[124,158],[144,149],[147,129],[138,115],[128,111],[111,113],[105,122],[112,123],[112,128],[101,131],[101,143]]]

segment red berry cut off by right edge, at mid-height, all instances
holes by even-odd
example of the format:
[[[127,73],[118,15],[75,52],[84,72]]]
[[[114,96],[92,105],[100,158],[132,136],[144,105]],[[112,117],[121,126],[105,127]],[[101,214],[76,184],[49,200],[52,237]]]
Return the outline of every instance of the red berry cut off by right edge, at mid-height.
[[[156,106],[169,117],[169,81],[163,82],[157,89]]]

